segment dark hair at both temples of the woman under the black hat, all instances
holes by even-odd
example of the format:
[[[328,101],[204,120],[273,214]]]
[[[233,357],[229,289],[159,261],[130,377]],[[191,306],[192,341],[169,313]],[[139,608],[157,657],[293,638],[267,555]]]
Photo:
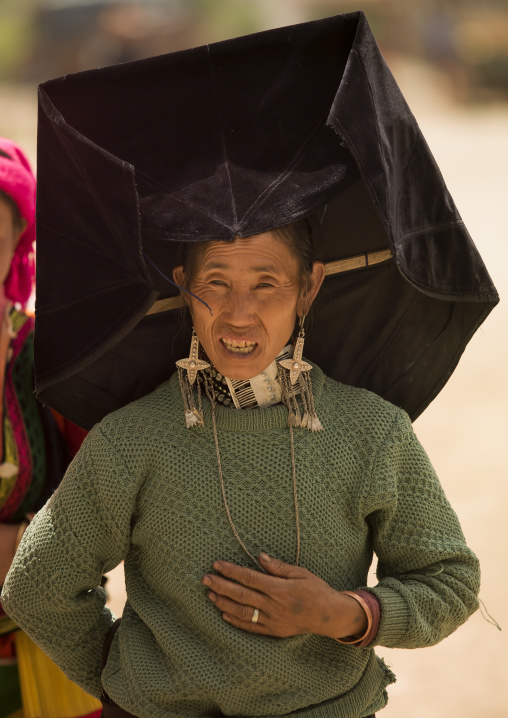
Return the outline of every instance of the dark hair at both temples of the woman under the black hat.
[[[312,230],[312,223],[307,217],[272,230],[276,238],[285,244],[296,257],[302,286],[311,274],[312,265],[316,259],[312,244]],[[190,281],[196,273],[199,259],[206,245],[207,242],[194,242],[187,251],[183,265],[186,288],[189,287]]]

